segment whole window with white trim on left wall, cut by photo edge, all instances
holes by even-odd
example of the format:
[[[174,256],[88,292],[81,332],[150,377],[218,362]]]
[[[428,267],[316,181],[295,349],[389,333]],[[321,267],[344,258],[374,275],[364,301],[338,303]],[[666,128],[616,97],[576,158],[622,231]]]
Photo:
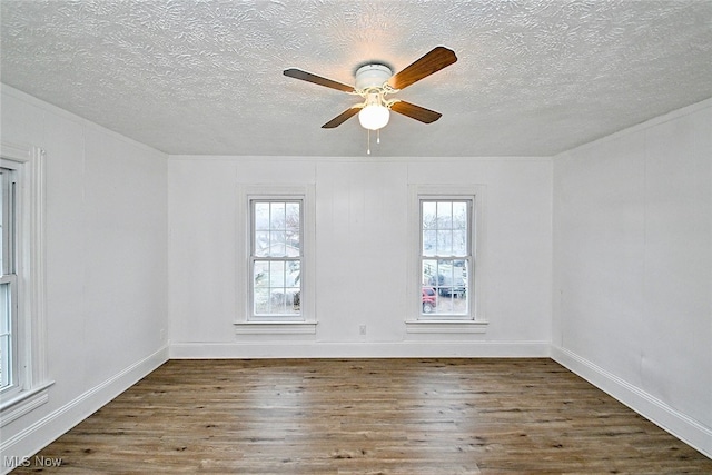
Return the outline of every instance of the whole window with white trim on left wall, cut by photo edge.
[[[49,399],[43,151],[0,144],[0,426]]]

